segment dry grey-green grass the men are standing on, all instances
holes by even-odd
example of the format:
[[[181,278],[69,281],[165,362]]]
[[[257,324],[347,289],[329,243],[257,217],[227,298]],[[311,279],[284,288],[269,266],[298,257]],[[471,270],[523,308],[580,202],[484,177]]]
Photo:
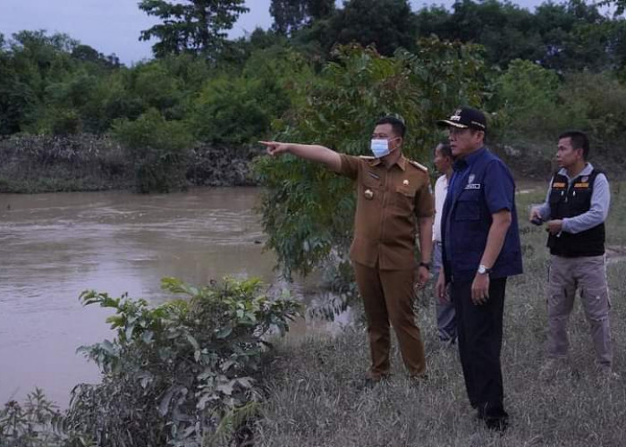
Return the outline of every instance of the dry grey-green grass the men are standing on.
[[[613,186],[609,246],[622,247],[626,194]],[[626,443],[626,261],[613,259],[608,279],[613,299],[611,324],[615,371],[607,381],[596,374],[588,324],[577,306],[571,316],[571,367],[552,380],[539,377],[546,342],[548,254],[543,229],[526,223],[529,203],[544,190],[518,197],[525,274],[512,278],[504,316],[505,406],[512,426],[493,434],[473,419],[458,354],[436,337],[432,299],[419,300],[419,327],[426,344],[427,383],[410,386],[393,343],[393,376],[362,389],[368,368],[364,329],[333,338],[283,342],[270,367],[268,399],[256,427],[263,446],[622,446]]]

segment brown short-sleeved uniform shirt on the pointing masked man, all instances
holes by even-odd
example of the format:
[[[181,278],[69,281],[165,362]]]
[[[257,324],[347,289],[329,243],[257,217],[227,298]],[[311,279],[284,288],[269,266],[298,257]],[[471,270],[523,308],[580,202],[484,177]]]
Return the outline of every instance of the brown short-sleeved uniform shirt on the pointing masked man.
[[[373,157],[341,159],[339,174],[357,181],[352,261],[381,270],[414,268],[417,219],[434,213],[427,168],[404,156],[389,169]]]

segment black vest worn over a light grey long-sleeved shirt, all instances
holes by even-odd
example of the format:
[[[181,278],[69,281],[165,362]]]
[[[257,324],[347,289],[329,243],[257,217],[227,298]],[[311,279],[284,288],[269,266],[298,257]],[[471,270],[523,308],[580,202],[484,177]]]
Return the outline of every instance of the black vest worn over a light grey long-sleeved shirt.
[[[550,189],[550,218],[563,219],[588,212],[594,181],[601,171],[594,169],[589,175],[579,175],[569,187],[568,179],[554,174]],[[550,253],[562,257],[587,257],[605,254],[605,223],[600,223],[584,232],[572,234],[561,232],[559,237],[548,236]]]

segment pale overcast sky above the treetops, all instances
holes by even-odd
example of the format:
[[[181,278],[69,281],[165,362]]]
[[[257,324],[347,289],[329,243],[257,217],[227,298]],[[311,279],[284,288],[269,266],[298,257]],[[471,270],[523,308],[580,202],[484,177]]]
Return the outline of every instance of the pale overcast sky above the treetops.
[[[534,8],[542,1],[513,3]],[[453,0],[410,3],[417,10],[424,4],[450,5]],[[140,42],[139,36],[141,30],[155,23],[137,4],[138,0],[0,0],[0,33],[8,38],[20,30],[64,32],[100,53],[115,53],[123,63],[130,64],[151,56],[150,43]],[[271,26],[269,4],[270,0],[246,0],[250,13],[241,15],[231,37],[240,37],[258,26]]]

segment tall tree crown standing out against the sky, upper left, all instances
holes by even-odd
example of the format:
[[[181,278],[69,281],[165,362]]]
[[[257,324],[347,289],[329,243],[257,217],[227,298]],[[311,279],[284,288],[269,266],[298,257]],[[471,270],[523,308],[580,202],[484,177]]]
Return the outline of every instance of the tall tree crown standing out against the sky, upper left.
[[[157,57],[191,53],[215,57],[226,34],[249,8],[245,0],[141,0],[140,9],[163,23],[141,31],[140,40],[157,38],[152,46]]]

